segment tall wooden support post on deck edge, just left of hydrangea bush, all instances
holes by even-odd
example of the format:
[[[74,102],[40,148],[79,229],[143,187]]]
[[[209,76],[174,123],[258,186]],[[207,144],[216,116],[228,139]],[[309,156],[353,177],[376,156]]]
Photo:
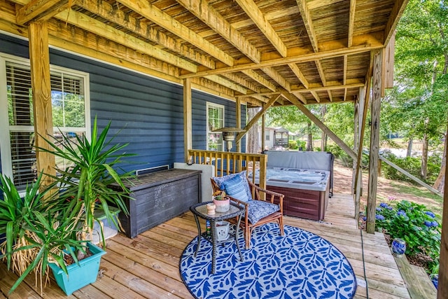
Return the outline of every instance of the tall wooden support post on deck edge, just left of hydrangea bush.
[[[369,190],[367,194],[367,232],[375,230],[375,208],[377,205],[377,183],[379,163],[379,111],[381,107],[381,62],[382,50],[374,54],[373,64],[373,96],[370,111],[370,160],[369,160]]]

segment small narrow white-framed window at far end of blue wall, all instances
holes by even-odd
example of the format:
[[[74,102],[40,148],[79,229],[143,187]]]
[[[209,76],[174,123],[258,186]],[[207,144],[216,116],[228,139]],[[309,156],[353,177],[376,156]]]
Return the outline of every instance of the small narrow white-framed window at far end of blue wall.
[[[223,133],[212,132],[224,127],[224,106],[207,103],[207,151],[224,151]]]

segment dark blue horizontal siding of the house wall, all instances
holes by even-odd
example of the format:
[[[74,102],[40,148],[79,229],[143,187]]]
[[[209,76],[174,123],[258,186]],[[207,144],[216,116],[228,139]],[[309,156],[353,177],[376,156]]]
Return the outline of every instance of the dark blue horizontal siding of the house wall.
[[[29,57],[27,41],[2,34],[0,52]],[[114,141],[129,143],[125,151],[137,154],[127,159],[130,162],[122,165],[123,169],[131,171],[167,164],[171,167],[173,162],[183,162],[181,85],[55,49],[50,49],[50,63],[90,74],[92,123],[95,116],[100,128],[111,121],[110,135],[119,132]],[[235,127],[235,102],[197,90],[193,90],[192,101],[193,148],[207,147],[206,102],[225,106],[225,125]],[[241,114],[245,116],[245,110]]]

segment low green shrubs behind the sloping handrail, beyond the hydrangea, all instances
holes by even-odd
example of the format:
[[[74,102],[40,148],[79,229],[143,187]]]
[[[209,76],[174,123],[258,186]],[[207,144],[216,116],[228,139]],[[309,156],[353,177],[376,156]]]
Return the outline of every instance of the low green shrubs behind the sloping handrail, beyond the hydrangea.
[[[420,177],[420,169],[421,169],[420,158],[414,158],[414,157],[398,158],[392,153],[384,153],[384,157],[387,160],[393,162],[395,165],[398,165],[402,169],[405,169],[407,172],[409,172],[409,174],[412,174],[413,176],[416,177]],[[441,164],[440,157],[438,157],[437,155],[430,156],[430,159],[428,159],[427,178],[426,180],[423,180],[425,181],[425,183],[433,185],[435,179],[437,179],[437,175],[440,172],[440,164]],[[387,165],[386,163],[381,163],[381,170],[386,179],[393,179],[396,181],[407,181],[413,184],[416,183],[412,179],[409,179],[409,177],[405,176],[405,174],[402,174],[397,169]]]

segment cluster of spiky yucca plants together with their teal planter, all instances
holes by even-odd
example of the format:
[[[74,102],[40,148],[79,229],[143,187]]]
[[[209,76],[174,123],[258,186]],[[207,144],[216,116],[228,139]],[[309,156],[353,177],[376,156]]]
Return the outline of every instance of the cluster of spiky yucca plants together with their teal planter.
[[[120,153],[126,144],[112,144],[113,138],[106,139],[110,125],[109,122],[102,132],[98,132],[95,118],[92,141],[85,136],[67,136],[62,132],[62,140],[44,137],[50,149],[37,149],[52,153],[72,165],[57,169],[57,176],[46,174],[53,183],[41,192],[38,190],[42,174],[27,187],[23,198],[13,182],[2,176],[4,201],[0,200],[0,235],[5,234],[6,240],[0,245],[0,257],[6,258],[8,269],[20,275],[10,292],[31,271],[36,272],[36,286],[37,277],[41,277],[42,290],[43,281],[48,281],[50,267],[57,284],[67,295],[96,280],[99,270],[99,258],[96,258],[105,252],[87,242],[89,236],[92,239],[94,222],[98,221],[95,211],[100,211],[109,223],[120,229],[118,218],[113,216],[110,207],[117,207],[128,214],[124,198],[130,192],[123,180],[133,177],[130,172],[119,173],[114,168],[131,154]],[[113,184],[120,186],[120,190],[111,188]],[[101,221],[99,223],[102,224]],[[102,225],[100,230],[100,239],[105,246]],[[94,256],[93,262],[90,262],[93,258],[89,255]],[[73,265],[67,264],[69,259],[65,258],[68,256]],[[73,273],[72,270],[81,272]],[[92,278],[87,278],[88,274]],[[66,286],[67,282],[75,285]]]

